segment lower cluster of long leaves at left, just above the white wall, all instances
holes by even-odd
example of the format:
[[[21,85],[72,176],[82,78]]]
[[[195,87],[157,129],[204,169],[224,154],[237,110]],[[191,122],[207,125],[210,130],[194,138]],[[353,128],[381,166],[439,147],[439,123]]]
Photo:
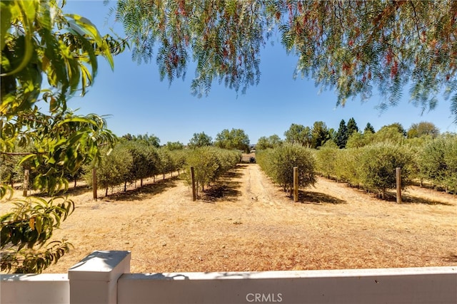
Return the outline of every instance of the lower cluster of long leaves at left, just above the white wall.
[[[14,273],[41,273],[56,263],[71,244],[52,241],[54,229],[74,211],[74,201],[64,197],[14,201],[14,208],[0,216],[0,269]],[[39,251],[44,245],[46,249]]]

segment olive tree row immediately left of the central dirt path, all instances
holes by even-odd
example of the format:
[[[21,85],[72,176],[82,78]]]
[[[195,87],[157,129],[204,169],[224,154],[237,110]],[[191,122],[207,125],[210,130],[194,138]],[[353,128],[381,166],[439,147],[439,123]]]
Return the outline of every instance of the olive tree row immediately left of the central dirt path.
[[[205,185],[226,174],[240,162],[241,152],[238,150],[225,150],[218,147],[197,147],[186,153],[186,170],[183,178],[191,184],[190,167],[194,167],[194,178],[198,195],[199,186],[204,191]]]

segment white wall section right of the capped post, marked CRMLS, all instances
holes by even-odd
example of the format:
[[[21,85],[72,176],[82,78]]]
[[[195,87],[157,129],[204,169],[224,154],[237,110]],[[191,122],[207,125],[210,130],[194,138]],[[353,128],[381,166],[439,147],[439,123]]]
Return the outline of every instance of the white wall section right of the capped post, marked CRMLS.
[[[457,267],[134,273],[119,278],[129,303],[457,303]]]

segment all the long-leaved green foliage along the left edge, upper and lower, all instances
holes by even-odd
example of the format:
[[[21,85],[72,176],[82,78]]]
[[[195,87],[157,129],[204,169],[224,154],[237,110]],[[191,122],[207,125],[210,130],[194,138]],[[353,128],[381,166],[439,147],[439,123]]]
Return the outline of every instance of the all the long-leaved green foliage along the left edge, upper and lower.
[[[104,117],[75,115],[67,100],[93,84],[100,56],[113,68],[113,55],[126,46],[101,36],[83,16],[64,14],[62,7],[56,0],[0,1],[0,162],[13,168],[17,159],[12,158],[21,152],[19,164],[35,175],[34,188],[51,196],[67,187],[65,174],[96,162],[101,147],[109,151],[116,143]],[[45,83],[49,88],[42,88]],[[39,109],[40,100],[49,105],[46,112]],[[2,179],[0,199],[8,194],[14,209],[0,217],[1,271],[39,273],[71,247],[66,241],[47,242],[74,211],[74,202],[18,200]]]

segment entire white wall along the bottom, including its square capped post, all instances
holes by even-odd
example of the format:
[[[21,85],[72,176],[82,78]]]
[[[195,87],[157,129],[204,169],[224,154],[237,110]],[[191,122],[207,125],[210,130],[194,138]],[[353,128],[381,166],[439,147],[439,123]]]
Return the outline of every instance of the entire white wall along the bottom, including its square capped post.
[[[1,275],[2,304],[457,303],[457,266],[129,273],[129,251],[94,251],[66,274]]]

